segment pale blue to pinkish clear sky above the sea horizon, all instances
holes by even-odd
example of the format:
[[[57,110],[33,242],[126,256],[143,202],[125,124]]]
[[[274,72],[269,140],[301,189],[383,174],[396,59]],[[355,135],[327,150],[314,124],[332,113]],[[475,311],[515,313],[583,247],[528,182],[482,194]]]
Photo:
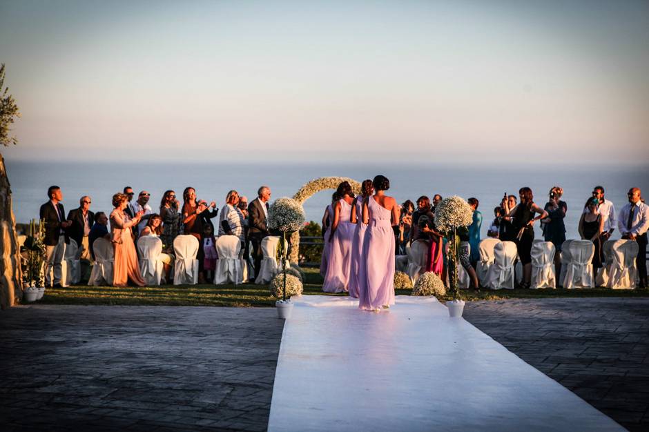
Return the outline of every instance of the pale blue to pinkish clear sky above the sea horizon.
[[[5,157],[649,165],[649,1],[0,0]]]

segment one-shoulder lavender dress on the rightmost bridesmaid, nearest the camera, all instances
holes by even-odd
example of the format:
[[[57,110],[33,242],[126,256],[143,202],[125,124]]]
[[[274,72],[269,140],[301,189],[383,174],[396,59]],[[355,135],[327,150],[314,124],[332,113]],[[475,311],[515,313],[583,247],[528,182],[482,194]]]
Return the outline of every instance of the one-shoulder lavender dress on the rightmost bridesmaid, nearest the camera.
[[[394,231],[391,212],[370,197],[360,263],[358,308],[376,311],[394,304]]]

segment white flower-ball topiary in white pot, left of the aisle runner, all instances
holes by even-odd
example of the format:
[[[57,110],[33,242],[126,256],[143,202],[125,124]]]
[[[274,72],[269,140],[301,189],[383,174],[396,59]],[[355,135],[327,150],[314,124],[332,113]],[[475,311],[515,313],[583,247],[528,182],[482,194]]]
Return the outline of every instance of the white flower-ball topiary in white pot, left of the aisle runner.
[[[268,227],[269,230],[278,232],[282,235],[280,240],[280,259],[282,260],[282,300],[275,302],[275,307],[278,309],[278,317],[281,319],[287,319],[291,316],[293,311],[293,302],[291,302],[291,293],[287,293],[287,279],[294,278],[300,284],[300,280],[293,276],[287,275],[287,235],[300,230],[304,224],[304,208],[296,199],[282,197],[275,200],[271,207],[269,208],[268,215]],[[277,277],[273,279],[273,282],[277,280]],[[271,282],[271,286],[273,286]],[[300,290],[301,293],[301,290]],[[292,293],[295,295],[295,293]],[[278,296],[279,297],[279,296]]]

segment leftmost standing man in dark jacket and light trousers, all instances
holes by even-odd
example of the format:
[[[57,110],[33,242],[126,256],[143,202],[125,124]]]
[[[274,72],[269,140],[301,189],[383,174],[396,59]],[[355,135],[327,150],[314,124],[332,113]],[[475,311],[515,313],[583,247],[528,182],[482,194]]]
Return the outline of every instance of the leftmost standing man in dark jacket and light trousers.
[[[45,221],[45,285],[61,286],[61,262],[70,243],[67,229],[71,222],[66,220],[66,210],[61,204],[63,193],[59,186],[48,188],[50,200],[41,206],[41,219]]]

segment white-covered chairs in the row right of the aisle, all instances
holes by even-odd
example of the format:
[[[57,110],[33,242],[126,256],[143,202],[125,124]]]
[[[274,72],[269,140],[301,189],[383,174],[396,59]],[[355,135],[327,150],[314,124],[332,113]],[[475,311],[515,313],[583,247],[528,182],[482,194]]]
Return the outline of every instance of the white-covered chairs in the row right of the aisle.
[[[521,282],[523,268],[517,262],[518,251],[514,242],[501,242],[499,239],[487,238],[478,244],[480,261],[476,271],[478,280],[486,288],[500,289],[516,286]],[[638,244],[632,240],[608,240],[602,246],[603,267],[593,275],[592,257],[594,244],[589,240],[566,240],[561,252],[561,274],[554,271],[554,244],[541,239],[532,244],[532,277],[531,288],[635,288],[637,267],[635,258],[638,255]],[[409,275],[414,283],[425,272],[428,246],[425,242],[415,241],[407,248],[407,255],[396,257],[396,268]],[[458,284],[460,288],[469,287],[469,275],[462,266],[458,266]]]

